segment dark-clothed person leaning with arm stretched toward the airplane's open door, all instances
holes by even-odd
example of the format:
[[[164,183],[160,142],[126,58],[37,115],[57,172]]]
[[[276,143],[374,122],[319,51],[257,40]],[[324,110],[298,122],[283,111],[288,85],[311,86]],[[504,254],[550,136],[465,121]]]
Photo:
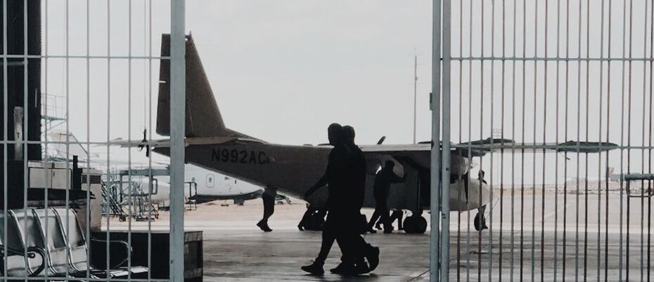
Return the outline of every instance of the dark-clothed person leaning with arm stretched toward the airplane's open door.
[[[373,213],[370,222],[368,222],[368,231],[371,233],[377,232],[373,230],[373,226],[379,217],[381,217],[380,221],[384,225],[384,233],[391,233],[393,230],[390,217],[388,216],[389,210],[387,203],[390,184],[404,182],[406,179],[405,177],[395,175],[393,168],[395,168],[395,162],[388,160],[384,163],[384,168],[379,170],[375,177],[375,183],[373,184],[373,196],[376,201],[375,213]]]

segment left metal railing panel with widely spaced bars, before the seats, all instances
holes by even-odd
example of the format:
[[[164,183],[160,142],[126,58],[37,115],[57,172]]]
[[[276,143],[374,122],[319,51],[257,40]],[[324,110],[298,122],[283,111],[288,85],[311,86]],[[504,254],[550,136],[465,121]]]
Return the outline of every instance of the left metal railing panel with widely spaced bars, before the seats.
[[[97,165],[94,161],[97,160],[90,159],[92,151],[102,155],[101,161],[107,168],[107,175],[111,174],[109,168],[118,154],[126,156],[128,168],[134,166],[133,149],[118,149],[112,140],[117,137],[141,140],[139,135],[143,128],[153,128],[152,104],[156,99],[153,100],[152,96],[159,84],[153,72],[158,72],[155,66],[161,60],[171,62],[173,102],[170,103],[170,117],[177,121],[181,116],[184,121],[184,5],[184,0],[130,0],[120,3],[18,0],[4,1],[0,5],[3,22],[0,67],[3,69],[1,86],[4,101],[1,109],[4,137],[0,141],[3,199],[0,202],[4,207],[4,219],[11,214],[26,219],[18,223],[19,229],[24,232],[16,239],[24,246],[18,246],[17,241],[4,241],[10,235],[8,220],[3,220],[0,225],[0,237],[3,239],[0,244],[1,280],[184,279],[183,192],[182,196],[171,195],[171,251],[165,254],[170,258],[169,272],[165,278],[153,278],[152,256],[155,248],[152,226],[149,221],[135,224],[132,222],[134,216],[127,216],[147,215],[151,218],[156,215],[149,204],[150,199],[133,201],[128,197],[130,203],[123,208],[122,203],[111,195],[110,187],[101,183],[100,173],[94,170]],[[167,8],[162,9],[162,6]],[[172,53],[162,57],[157,53],[160,49],[158,39],[161,34],[167,33],[172,34]],[[46,93],[56,93],[57,96],[53,98]],[[139,116],[134,116],[134,112],[139,112]],[[184,150],[183,142],[179,142],[184,138],[184,124],[171,124],[170,135],[174,140],[171,151],[174,157],[170,174],[172,182],[177,183],[184,180],[184,154],[179,155]],[[138,125],[141,128],[137,128]],[[64,133],[77,131],[79,141],[66,137],[64,141],[50,142],[47,137],[54,127]],[[151,142],[155,137],[150,133],[146,141]],[[53,143],[64,146],[65,151],[61,152],[65,154],[50,158],[53,156]],[[70,150],[72,145],[82,147],[89,152],[89,156],[73,156]],[[79,162],[73,161],[77,157],[80,158]],[[38,164],[39,175],[30,174],[30,169],[37,168],[35,163]],[[148,168],[152,168],[151,157],[148,158]],[[183,186],[181,182],[179,187]],[[130,195],[137,190],[134,186],[127,189]],[[171,189],[171,193],[177,192]],[[108,199],[105,206],[108,213],[119,215],[124,222],[101,217],[101,198]],[[30,217],[30,210],[38,210],[39,215]],[[34,227],[32,224],[42,227],[42,241],[58,242],[51,237],[63,236],[59,241],[65,242],[65,246],[47,246],[41,253],[40,247],[27,246],[30,238],[37,234],[36,229],[30,229]],[[113,237],[124,232],[124,244],[129,249],[134,243],[132,237],[136,231],[146,234],[148,251],[142,254],[128,251],[122,267],[135,269],[134,257],[138,255],[146,262],[143,265],[146,271],[138,276],[134,271],[127,271],[124,277],[111,273],[109,269],[113,265],[110,264],[117,257],[115,252],[120,249],[115,248]],[[75,245],[75,240],[80,238],[85,239],[84,243],[77,241],[78,245]],[[97,243],[97,239],[105,240]],[[15,246],[11,246],[11,243]],[[91,248],[94,248],[94,253],[103,254],[101,262],[105,265],[94,266],[101,271],[91,267],[77,269],[83,263],[90,265]],[[41,255],[42,265],[46,266],[44,269],[27,269],[28,260],[38,257],[34,255],[35,252]],[[8,256],[11,256],[11,263]],[[10,274],[8,264],[12,267],[20,265],[15,264],[17,257],[25,260],[27,271]],[[75,257],[85,257],[84,262],[72,263]],[[57,263],[62,265],[55,265]],[[143,276],[143,273],[146,275]]]

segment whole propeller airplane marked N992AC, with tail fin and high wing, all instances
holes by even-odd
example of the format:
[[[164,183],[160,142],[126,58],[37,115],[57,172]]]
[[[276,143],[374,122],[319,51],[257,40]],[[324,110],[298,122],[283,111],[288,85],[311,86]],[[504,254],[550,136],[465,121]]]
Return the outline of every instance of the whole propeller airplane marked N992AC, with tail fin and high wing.
[[[170,54],[169,34],[162,34],[162,57]],[[167,136],[169,128],[169,60],[160,62],[160,86],[156,132]],[[367,163],[364,207],[373,208],[373,180],[381,163],[392,160],[395,173],[406,175],[402,189],[392,189],[388,206],[410,210],[404,220],[406,233],[424,233],[427,222],[423,210],[430,206],[430,153],[432,142],[410,145],[360,145]],[[186,163],[236,177],[265,189],[276,188],[291,196],[304,192],[324,173],[329,145],[280,145],[259,140],[227,128],[212,93],[207,74],[200,61],[191,35],[186,36]],[[153,152],[169,156],[169,140],[127,142],[123,146],[150,145]],[[440,145],[439,145],[440,146]],[[482,211],[491,202],[489,186],[469,175],[470,160],[492,151],[506,152],[605,152],[615,149],[613,143],[574,142],[528,145],[508,139],[464,142],[451,146],[450,199],[451,211]],[[463,193],[466,192],[466,193]],[[319,189],[307,199],[316,208],[326,203],[326,189]],[[483,216],[483,213],[480,213]]]

